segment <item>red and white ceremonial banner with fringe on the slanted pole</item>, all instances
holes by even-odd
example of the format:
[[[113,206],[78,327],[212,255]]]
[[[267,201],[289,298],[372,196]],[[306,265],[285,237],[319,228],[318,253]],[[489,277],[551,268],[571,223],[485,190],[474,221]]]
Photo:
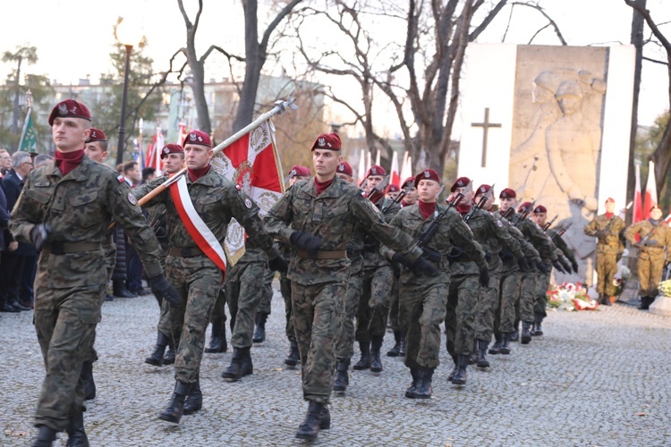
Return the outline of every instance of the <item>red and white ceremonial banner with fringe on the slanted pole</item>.
[[[285,192],[272,122],[264,122],[215,155],[212,167],[250,196],[259,206],[260,215],[266,215]],[[225,252],[233,265],[244,255],[244,241],[242,225],[232,219],[228,225]]]

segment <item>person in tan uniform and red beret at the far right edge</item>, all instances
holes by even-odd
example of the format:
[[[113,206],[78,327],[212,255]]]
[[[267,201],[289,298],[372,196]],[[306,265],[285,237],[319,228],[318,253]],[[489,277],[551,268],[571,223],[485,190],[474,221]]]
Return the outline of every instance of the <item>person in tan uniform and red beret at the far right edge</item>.
[[[636,242],[636,235],[641,237]],[[639,249],[639,296],[641,310],[650,308],[650,304],[657,298],[658,284],[662,279],[665,252],[671,245],[671,228],[662,219],[662,209],[655,205],[650,208],[650,218],[626,229],[626,240]]]

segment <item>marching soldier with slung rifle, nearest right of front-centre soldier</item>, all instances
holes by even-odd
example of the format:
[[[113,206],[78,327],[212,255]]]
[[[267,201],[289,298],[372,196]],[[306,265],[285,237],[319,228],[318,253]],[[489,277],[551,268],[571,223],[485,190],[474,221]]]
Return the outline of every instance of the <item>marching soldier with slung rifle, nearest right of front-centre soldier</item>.
[[[412,207],[403,207],[395,215],[392,225],[411,235],[414,240],[420,240],[424,258],[440,272],[437,276],[426,277],[420,276],[412,269],[403,269],[399,282],[399,299],[408,321],[405,366],[410,368],[412,375],[412,384],[405,391],[405,397],[429,399],[432,393],[433,372],[439,364],[440,324],[446,317],[447,295],[451,282],[450,261],[443,254],[450,253],[454,245],[458,245],[468,253],[469,259],[479,270],[480,284],[477,279],[475,283],[469,282],[476,293],[479,285],[487,287],[489,274],[485,253],[480,244],[472,239],[471,230],[463,223],[461,215],[454,209],[446,209],[446,206],[437,204],[437,196],[441,189],[437,172],[425,169],[415,177],[414,184],[417,186],[419,201]],[[435,228],[435,232],[433,229],[430,230],[434,234],[429,239],[427,234],[430,235],[431,227]],[[383,251],[393,253],[386,249]],[[470,303],[463,304],[468,306]],[[462,308],[455,310],[456,313],[461,311]],[[468,324],[466,321],[465,325]],[[454,322],[446,322],[446,325],[454,326]],[[459,335],[458,339],[456,335],[451,339],[448,335],[448,339],[454,342],[454,353],[460,356],[460,361],[463,361],[461,354],[465,354],[467,364],[473,337],[471,333],[469,342],[461,336],[464,332],[463,325],[464,323],[459,327],[448,327],[448,333],[454,331]],[[472,327],[472,314],[470,325]]]

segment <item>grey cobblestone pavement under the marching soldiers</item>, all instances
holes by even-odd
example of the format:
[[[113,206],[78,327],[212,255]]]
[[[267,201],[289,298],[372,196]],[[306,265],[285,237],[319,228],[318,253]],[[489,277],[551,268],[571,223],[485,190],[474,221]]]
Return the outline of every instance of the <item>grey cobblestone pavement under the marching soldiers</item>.
[[[156,340],[153,297],[115,299],[103,307],[94,365],[98,396],[85,425],[93,446],[292,445],[307,404],[300,371],[285,367],[284,302],[273,299],[268,336],[252,349],[254,374],[220,377],[231,352],[205,354],[203,409],[179,426],[157,419],[173,386],[172,367],[143,363]],[[44,378],[31,312],[0,318],[1,445],[30,445]],[[545,335],[514,343],[492,367],[469,367],[468,384],[447,382],[446,351],[433,399],[403,397],[410,374],[384,358],[379,375],[351,371],[334,397],[332,428],[319,445],[669,445],[671,318],[616,304],[597,311],[551,312]],[[230,335],[230,333],[229,333]],[[384,352],[393,336],[387,333]],[[355,358],[356,360],[356,358]],[[61,434],[56,445],[64,445]]]

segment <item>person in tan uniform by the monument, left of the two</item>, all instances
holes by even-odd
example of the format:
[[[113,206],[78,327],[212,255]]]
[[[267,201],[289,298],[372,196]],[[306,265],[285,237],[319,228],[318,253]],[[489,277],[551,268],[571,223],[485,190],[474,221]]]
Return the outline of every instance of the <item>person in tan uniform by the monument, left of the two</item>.
[[[606,213],[594,217],[585,225],[584,232],[598,238],[596,264],[599,304],[610,306],[610,297],[615,295],[613,280],[617,273],[617,261],[624,249],[620,241],[624,221],[614,213],[615,199],[607,198],[605,206]]]

